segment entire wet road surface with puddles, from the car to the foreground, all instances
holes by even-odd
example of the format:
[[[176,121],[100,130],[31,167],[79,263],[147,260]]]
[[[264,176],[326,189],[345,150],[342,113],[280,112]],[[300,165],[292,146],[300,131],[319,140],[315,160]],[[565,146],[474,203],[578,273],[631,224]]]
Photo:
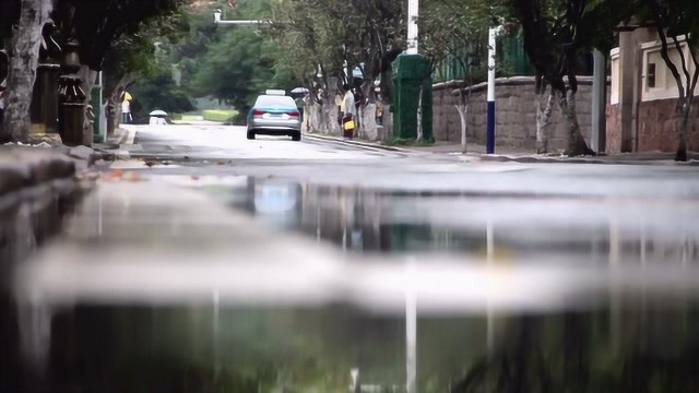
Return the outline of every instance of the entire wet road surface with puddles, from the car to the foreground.
[[[14,269],[0,391],[337,391],[352,368],[400,386],[408,298],[424,392],[493,358],[537,368],[519,382],[531,370],[487,369],[519,390],[571,386],[560,365],[585,357],[570,369],[601,388],[576,391],[697,391],[695,167],[134,129],[62,234]]]

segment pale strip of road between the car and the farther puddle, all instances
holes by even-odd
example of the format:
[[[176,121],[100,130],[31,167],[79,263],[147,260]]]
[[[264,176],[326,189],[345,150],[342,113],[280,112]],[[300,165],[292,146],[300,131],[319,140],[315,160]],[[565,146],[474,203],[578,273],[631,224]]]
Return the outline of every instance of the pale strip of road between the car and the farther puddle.
[[[682,166],[472,163],[458,155],[403,154],[305,139],[245,139],[241,127],[135,128],[130,158],[115,167],[144,175],[269,176],[298,183],[365,190],[566,198],[695,200],[696,168]],[[157,170],[155,170],[157,169]]]

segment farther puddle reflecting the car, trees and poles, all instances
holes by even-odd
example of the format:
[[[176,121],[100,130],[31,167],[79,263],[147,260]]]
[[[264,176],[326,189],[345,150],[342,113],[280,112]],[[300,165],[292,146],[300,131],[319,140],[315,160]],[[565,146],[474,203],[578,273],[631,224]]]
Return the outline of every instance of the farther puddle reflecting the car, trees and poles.
[[[235,207],[357,252],[592,264],[699,261],[699,202],[410,193],[248,179]],[[252,203],[251,203],[252,202]],[[488,252],[490,251],[490,252]]]

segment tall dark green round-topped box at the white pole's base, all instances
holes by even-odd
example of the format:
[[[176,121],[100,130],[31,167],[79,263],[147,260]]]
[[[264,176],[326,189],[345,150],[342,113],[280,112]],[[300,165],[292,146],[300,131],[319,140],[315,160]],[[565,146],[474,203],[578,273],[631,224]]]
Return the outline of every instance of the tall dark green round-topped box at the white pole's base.
[[[417,109],[422,108],[423,142],[433,135],[433,80],[423,55],[400,55],[393,62],[393,130],[398,141],[416,141]]]

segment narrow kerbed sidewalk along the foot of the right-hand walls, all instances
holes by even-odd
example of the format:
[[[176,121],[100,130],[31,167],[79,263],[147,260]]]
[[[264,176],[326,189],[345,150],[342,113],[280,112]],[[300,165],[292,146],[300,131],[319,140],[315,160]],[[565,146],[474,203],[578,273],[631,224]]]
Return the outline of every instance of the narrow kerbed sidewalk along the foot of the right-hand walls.
[[[462,154],[461,144],[454,142],[437,141],[433,145],[386,145],[381,142],[371,142],[363,139],[348,140],[340,136],[330,136],[317,133],[306,133],[306,138],[319,141],[333,142],[345,145],[353,145],[363,148],[384,150],[401,153],[430,153],[437,155],[449,155],[459,157],[467,162],[496,162],[496,163],[523,163],[523,164],[626,164],[626,165],[688,165],[699,166],[699,152],[690,152],[687,163],[674,160],[674,153],[643,152],[643,153],[621,153],[599,156],[567,157],[557,153],[536,154],[531,150],[498,147],[495,154],[486,154],[485,145],[469,144],[466,154]]]

